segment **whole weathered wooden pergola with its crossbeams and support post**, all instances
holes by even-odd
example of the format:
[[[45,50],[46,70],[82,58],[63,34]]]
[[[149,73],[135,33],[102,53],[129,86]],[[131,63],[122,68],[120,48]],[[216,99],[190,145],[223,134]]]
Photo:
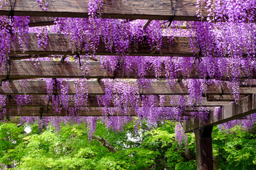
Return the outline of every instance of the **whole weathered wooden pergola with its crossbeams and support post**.
[[[54,17],[74,17],[86,18],[88,17],[88,1],[73,0],[73,1],[48,1],[48,10],[42,11],[36,1],[33,0],[16,0],[11,8],[9,4],[4,4],[0,8],[0,15],[10,16],[13,12],[14,16],[31,16],[30,26],[48,26],[54,22]],[[146,20],[169,20],[176,21],[198,21],[196,15],[196,0],[159,0],[159,1],[146,1],[146,0],[126,0],[115,1],[112,5],[109,1],[103,1],[102,18],[122,18],[122,19],[146,19]],[[14,1],[12,1],[14,3]],[[174,9],[175,8],[175,9]],[[206,11],[202,11],[203,16],[207,16]],[[134,46],[129,47],[130,56],[159,56],[159,57],[192,57],[190,40],[188,37],[175,37],[174,44],[169,45],[167,38],[163,38],[163,45],[161,50],[154,53],[151,52],[149,45],[142,45],[139,48]],[[29,35],[28,50],[24,54],[19,47],[12,47],[10,53],[10,67],[8,73],[1,73],[0,78],[2,81],[9,79],[9,89],[0,87],[0,94],[2,95],[16,95],[28,94],[33,95],[33,103],[28,103],[21,111],[17,111],[17,103],[15,101],[7,101],[5,108],[10,111],[11,116],[36,116],[46,115],[55,116],[53,109],[48,109],[51,103],[46,103],[43,100],[43,95],[47,94],[46,81],[43,80],[28,80],[28,86],[24,90],[18,84],[18,79],[35,79],[35,78],[79,78],[79,79],[137,79],[136,74],[110,74],[105,72],[100,62],[92,61],[89,63],[90,71],[88,74],[83,75],[83,71],[75,67],[75,62],[57,62],[57,61],[42,61],[38,68],[34,67],[34,62],[23,61],[31,57],[48,57],[49,55],[74,55],[73,50],[70,49],[69,40],[64,35],[49,34],[48,46],[46,50],[38,49],[36,35],[31,33]],[[87,54],[87,51],[80,51],[80,55]],[[105,49],[103,42],[100,43],[96,55],[115,55],[113,52],[108,52]],[[183,79],[181,74],[178,74],[178,79]],[[155,79],[154,72],[148,72],[145,76],[146,79]],[[159,79],[166,79],[164,73]],[[200,77],[200,74],[194,72],[188,75],[186,79],[205,79]],[[222,77],[223,81],[228,80],[228,77]],[[248,79],[246,75],[240,77],[241,80]],[[256,79],[256,75],[252,74],[250,79]],[[70,95],[75,94],[73,87],[74,81],[69,82]],[[105,94],[105,86],[100,81],[88,81],[88,107],[89,112],[80,111],[81,116],[101,116],[100,108],[97,104],[96,95]],[[153,81],[151,83],[152,90],[139,89],[139,94],[151,95],[188,95],[188,88],[184,84],[178,84],[174,88],[170,88],[166,81]],[[213,125],[228,122],[242,118],[256,112],[256,86],[240,86],[240,100],[238,104],[230,103],[234,101],[232,91],[227,86],[208,86],[206,94],[203,96],[203,104],[201,106],[209,107],[210,114],[206,123],[199,123],[191,118],[188,123],[184,123],[185,132],[195,132],[196,134],[196,159],[198,169],[213,169],[213,153],[211,143],[211,132]],[[220,96],[223,96],[220,98]],[[74,105],[74,101],[70,102]],[[170,101],[166,100],[165,107],[172,107]],[[218,118],[215,118],[213,110],[215,106],[222,108],[222,113]],[[195,106],[186,108],[185,114],[191,111],[197,111]],[[60,115],[65,115],[61,113]],[[135,116],[130,113],[130,116]]]

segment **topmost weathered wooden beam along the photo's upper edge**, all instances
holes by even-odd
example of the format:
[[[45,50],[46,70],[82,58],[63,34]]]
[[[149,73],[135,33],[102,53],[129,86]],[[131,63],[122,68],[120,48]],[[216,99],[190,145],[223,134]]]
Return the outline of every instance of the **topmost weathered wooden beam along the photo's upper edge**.
[[[6,1],[8,4],[6,4]],[[88,17],[89,1],[55,1],[48,0],[48,10],[43,11],[37,1],[33,0],[12,0],[15,16],[50,16],[50,17]],[[14,2],[16,4],[14,5]],[[1,1],[2,8],[0,15],[10,16],[11,7],[8,0]],[[201,18],[196,16],[196,0],[103,0],[102,18],[124,18],[124,19],[154,19],[169,20],[174,16],[174,20],[180,21],[198,21]],[[205,8],[203,16],[207,16]]]

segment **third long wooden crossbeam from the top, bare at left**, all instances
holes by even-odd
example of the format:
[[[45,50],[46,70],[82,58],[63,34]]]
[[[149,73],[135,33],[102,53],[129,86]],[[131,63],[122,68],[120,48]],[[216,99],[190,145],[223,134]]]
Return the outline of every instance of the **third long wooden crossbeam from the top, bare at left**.
[[[87,79],[137,79],[136,72],[116,72],[110,74],[102,69],[100,62],[89,62],[89,72],[85,74],[83,69],[78,67],[75,62],[57,62],[57,61],[42,61],[35,67],[35,62],[32,61],[11,61],[11,67],[7,72],[0,73],[0,79],[33,79],[33,78],[87,78]],[[201,75],[200,70],[194,67],[191,74],[183,77],[181,71],[176,72],[177,79],[205,79]],[[85,75],[84,75],[85,74]],[[166,79],[166,72],[162,69],[159,79]],[[154,71],[148,71],[144,76],[146,79],[156,79]],[[248,78],[247,75],[242,74],[240,79],[256,79],[255,72],[252,77]],[[230,80],[229,77],[223,77],[222,80]],[[251,94],[251,93],[250,93]],[[228,98],[227,98],[228,99]],[[233,98],[232,98],[233,100]]]

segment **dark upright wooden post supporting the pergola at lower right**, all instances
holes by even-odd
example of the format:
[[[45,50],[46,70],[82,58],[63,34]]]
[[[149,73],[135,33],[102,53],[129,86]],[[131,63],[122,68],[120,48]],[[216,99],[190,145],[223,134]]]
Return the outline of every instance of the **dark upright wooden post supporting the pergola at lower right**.
[[[206,126],[194,130],[196,135],[196,164],[198,170],[213,170],[212,131],[213,126]]]

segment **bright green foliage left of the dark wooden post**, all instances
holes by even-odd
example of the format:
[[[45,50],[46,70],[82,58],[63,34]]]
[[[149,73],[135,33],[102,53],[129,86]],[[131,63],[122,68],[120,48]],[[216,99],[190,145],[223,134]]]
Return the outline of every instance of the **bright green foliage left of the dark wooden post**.
[[[174,126],[174,123],[166,123],[146,132],[138,141],[129,141],[127,134],[137,136],[132,123],[123,132],[107,130],[98,123],[95,135],[117,149],[112,153],[97,140],[88,140],[85,125],[62,125],[58,133],[48,126],[41,134],[38,125],[31,125],[32,132],[26,135],[24,128],[17,128],[16,124],[3,124],[1,137],[5,135],[15,144],[10,141],[1,144],[4,153],[1,162],[15,161],[17,169],[170,169],[171,159],[186,162],[174,142]],[[177,151],[175,158],[173,152]]]

